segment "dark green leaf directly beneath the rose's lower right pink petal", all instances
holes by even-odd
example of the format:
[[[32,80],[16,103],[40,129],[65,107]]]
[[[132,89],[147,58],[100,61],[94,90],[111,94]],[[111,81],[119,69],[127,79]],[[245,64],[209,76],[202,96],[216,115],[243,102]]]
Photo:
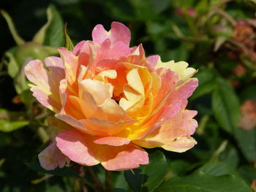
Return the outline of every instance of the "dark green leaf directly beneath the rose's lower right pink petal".
[[[149,160],[148,165],[133,169],[133,172],[124,172],[127,182],[134,191],[154,191],[167,174],[167,162],[162,152],[152,153]]]

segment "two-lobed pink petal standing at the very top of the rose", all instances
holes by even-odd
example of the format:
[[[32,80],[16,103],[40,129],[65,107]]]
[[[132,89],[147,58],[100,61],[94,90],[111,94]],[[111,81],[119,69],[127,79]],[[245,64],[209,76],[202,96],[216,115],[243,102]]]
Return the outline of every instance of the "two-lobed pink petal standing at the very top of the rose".
[[[131,33],[127,26],[124,26],[122,23],[113,22],[111,23],[110,31],[106,31],[102,25],[97,25],[92,31],[92,39],[97,44],[102,44],[105,39],[110,39],[111,43],[122,41],[125,44],[129,45],[131,39]]]

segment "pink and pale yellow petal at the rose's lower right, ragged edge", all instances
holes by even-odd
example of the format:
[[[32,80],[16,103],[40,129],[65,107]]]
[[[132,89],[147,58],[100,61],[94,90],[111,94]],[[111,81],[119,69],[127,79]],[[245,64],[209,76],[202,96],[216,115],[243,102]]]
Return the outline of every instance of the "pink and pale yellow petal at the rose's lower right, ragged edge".
[[[190,135],[195,133],[197,121],[192,119],[196,111],[182,110],[144,139],[134,141],[142,147],[163,147],[165,150],[184,152],[197,142]]]

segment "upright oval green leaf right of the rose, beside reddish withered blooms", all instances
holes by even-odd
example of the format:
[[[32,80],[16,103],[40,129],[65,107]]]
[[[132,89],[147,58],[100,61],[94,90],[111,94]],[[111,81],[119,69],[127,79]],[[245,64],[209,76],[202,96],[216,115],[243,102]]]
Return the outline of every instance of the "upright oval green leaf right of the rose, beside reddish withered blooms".
[[[219,125],[232,132],[238,125],[240,106],[236,93],[227,81],[217,78],[218,87],[212,95],[212,109]]]

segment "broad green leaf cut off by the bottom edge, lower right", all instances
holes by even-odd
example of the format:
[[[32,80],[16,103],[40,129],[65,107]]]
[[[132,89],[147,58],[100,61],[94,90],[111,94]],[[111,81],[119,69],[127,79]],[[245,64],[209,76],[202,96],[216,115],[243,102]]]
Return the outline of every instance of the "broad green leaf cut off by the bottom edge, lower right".
[[[175,177],[159,185],[155,192],[252,192],[249,186],[234,175],[212,176],[191,174]]]

